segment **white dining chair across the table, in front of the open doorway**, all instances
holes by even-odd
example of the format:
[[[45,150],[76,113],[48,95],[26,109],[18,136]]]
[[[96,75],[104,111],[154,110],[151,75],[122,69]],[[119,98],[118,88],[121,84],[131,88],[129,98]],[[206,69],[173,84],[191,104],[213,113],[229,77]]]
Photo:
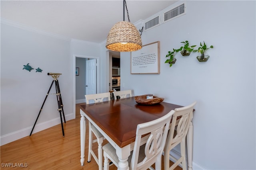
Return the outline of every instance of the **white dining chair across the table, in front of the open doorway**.
[[[98,103],[103,101],[109,101],[110,100],[110,92],[107,93],[98,93],[98,94],[88,94],[85,95],[86,98],[86,104],[90,103]],[[92,140],[92,133],[96,136],[95,140]],[[103,143],[104,137],[102,134],[92,125],[92,123],[89,122],[89,147],[88,147],[88,161],[91,161],[91,155],[93,156],[94,160],[97,162],[99,166],[99,170],[102,170],[103,167],[103,161],[102,161],[102,143]],[[92,143],[98,142],[98,158],[96,154],[92,150]]]

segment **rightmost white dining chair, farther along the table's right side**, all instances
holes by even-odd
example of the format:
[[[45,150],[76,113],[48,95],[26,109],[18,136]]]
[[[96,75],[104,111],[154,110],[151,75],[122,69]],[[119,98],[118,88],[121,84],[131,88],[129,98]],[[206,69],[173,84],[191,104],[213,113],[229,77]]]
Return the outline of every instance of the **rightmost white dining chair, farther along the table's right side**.
[[[182,169],[187,170],[185,142],[195,105],[196,102],[185,107],[174,109],[175,113],[172,117],[172,123],[170,124],[170,130],[164,147],[164,170],[173,170],[180,163]],[[177,160],[170,155],[170,150],[178,144],[180,144],[181,157]],[[175,161],[172,166],[170,166],[170,158]]]

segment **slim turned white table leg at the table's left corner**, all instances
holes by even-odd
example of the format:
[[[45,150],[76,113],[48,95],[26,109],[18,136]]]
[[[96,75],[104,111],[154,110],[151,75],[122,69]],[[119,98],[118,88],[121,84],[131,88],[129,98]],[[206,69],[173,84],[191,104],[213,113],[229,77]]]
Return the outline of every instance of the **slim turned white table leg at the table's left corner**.
[[[80,146],[81,146],[81,165],[84,165],[84,149],[85,149],[85,133],[86,133],[86,121],[85,117],[82,114],[82,110],[80,110]]]

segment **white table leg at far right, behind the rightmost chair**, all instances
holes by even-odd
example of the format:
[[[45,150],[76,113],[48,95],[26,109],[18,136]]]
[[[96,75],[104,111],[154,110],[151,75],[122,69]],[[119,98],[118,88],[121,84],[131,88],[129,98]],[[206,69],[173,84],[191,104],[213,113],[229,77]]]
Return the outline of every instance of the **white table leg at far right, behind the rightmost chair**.
[[[190,120],[190,125],[187,134],[187,147],[188,147],[188,170],[193,170],[192,168],[192,155],[193,155],[193,124],[192,119]]]

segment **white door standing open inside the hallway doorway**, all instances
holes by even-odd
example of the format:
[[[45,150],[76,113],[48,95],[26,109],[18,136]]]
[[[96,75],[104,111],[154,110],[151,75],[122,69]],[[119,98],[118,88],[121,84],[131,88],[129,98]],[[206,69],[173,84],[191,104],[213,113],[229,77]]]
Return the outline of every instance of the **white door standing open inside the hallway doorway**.
[[[88,59],[86,61],[86,80],[85,80],[86,94],[97,93],[97,60]]]

